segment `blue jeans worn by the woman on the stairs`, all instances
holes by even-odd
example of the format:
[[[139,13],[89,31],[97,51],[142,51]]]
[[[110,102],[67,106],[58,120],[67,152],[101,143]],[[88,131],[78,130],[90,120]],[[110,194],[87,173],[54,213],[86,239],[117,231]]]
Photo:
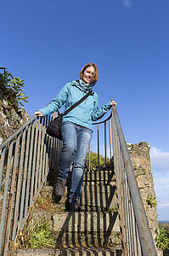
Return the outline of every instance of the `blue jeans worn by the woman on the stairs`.
[[[84,165],[92,131],[81,125],[65,121],[61,127],[63,148],[60,154],[58,177],[66,179],[73,161],[70,202],[81,195]]]

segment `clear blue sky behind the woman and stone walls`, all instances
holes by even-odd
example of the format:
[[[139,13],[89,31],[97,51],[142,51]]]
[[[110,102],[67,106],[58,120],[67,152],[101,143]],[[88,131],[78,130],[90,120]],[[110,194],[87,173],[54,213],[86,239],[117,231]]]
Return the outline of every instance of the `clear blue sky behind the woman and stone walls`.
[[[6,0],[0,7],[0,66],[25,79],[28,113],[95,62],[100,107],[114,97],[127,143],[151,146],[159,218],[169,220],[169,1]]]

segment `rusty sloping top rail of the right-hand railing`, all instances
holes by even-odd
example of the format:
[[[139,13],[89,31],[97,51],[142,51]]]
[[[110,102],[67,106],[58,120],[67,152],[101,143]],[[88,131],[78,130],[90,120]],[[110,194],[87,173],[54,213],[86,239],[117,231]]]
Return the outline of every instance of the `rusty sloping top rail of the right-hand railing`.
[[[124,166],[127,174],[127,186],[128,186],[128,205],[127,205],[127,212],[128,212],[128,231],[129,231],[129,239],[132,241],[129,242],[130,247],[130,253],[135,255],[136,248],[134,245],[136,244],[136,241],[133,237],[133,223],[132,223],[132,214],[134,214],[134,218],[136,220],[137,228],[138,228],[138,236],[141,243],[142,253],[143,255],[147,256],[155,256],[155,244],[149,229],[149,223],[148,219],[146,217],[146,213],[144,211],[144,204],[141,199],[141,195],[139,193],[138,189],[138,183],[132,168],[132,162],[130,160],[130,155],[127,150],[127,143],[125,141],[125,137],[123,135],[122,129],[121,129],[121,123],[118,118],[118,114],[115,107],[112,107],[113,116],[115,119],[115,127],[117,131],[117,135],[119,137],[119,142],[121,145],[121,153],[122,158],[124,161]],[[130,199],[131,197],[131,199]],[[133,213],[131,212],[131,203],[133,206]],[[139,206],[139,207],[138,207]]]

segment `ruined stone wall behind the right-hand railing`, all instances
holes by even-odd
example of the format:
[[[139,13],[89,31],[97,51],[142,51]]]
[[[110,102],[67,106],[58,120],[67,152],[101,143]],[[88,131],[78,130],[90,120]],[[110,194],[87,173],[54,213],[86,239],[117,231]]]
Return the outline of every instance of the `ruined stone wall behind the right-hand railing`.
[[[149,221],[149,228],[155,241],[155,230],[158,229],[159,222],[155,206],[155,189],[151,172],[149,143],[127,144],[127,148],[138,181],[138,188],[144,202],[144,209]],[[157,253],[159,256],[163,255],[162,251],[158,249]]]

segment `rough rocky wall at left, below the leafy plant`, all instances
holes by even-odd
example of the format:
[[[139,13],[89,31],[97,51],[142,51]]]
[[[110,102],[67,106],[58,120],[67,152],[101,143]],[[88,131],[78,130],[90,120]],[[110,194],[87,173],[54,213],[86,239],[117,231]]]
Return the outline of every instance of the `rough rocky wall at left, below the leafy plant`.
[[[10,108],[0,89],[0,144],[30,119],[24,108]]]

